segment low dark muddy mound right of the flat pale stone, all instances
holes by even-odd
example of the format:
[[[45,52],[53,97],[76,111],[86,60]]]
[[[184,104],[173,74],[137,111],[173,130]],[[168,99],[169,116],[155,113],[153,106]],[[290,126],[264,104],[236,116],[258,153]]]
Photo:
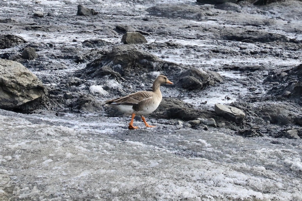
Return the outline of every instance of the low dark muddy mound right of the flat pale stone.
[[[261,114],[265,120],[272,124],[292,124],[295,121],[296,113],[292,111],[289,105],[268,104],[261,107]]]

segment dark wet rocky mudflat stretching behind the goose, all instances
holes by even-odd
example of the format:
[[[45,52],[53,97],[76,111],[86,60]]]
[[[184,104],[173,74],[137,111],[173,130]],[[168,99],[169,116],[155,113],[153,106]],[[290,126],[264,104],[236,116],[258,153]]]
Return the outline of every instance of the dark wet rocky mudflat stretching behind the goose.
[[[133,15],[122,13],[110,16],[104,14],[105,11],[97,5],[95,10],[99,10],[98,12],[81,5],[78,6],[77,15],[51,14],[49,11],[47,16],[37,16],[35,13],[32,17],[27,16],[32,22],[29,24],[24,23],[21,16],[12,18],[9,14],[2,13],[2,33],[8,33],[5,30],[6,27],[10,27],[10,34],[0,36],[2,44],[0,57],[18,61],[32,70],[43,82],[45,89],[43,96],[41,94],[37,96],[39,99],[21,101],[10,107],[3,106],[8,98],[5,95],[2,97],[2,108],[57,112],[80,110],[101,112],[109,116],[119,115],[117,111],[104,108],[102,100],[147,90],[156,75],[165,74],[174,80],[175,85],[163,89],[163,94],[169,97],[165,98],[158,110],[150,115],[153,118],[173,118],[182,121],[213,118],[218,127],[235,130],[237,133],[249,130],[251,133],[272,137],[293,137],[281,133],[282,130],[294,129],[297,131],[294,138],[299,139],[302,137],[300,86],[302,67],[297,63],[301,63],[302,38],[299,33],[302,26],[296,22],[301,19],[300,13],[291,15],[289,10],[301,6],[302,3],[266,2],[267,5],[258,7],[249,1],[235,3],[160,4],[147,8],[146,17],[134,14],[134,11]],[[285,6],[288,9],[285,9]],[[72,5],[69,7],[72,8]],[[21,11],[22,9],[19,11],[20,14]],[[65,22],[58,18],[62,15]],[[89,17],[81,18],[80,15]],[[281,18],[281,15],[284,15],[284,18]],[[127,23],[118,22],[121,16],[129,18]],[[169,26],[174,19],[179,23]],[[73,20],[76,23],[72,23]],[[211,20],[221,23],[200,23]],[[59,22],[58,25],[54,25],[55,21]],[[103,28],[100,27],[100,21],[104,22]],[[60,34],[59,29],[67,32],[64,24],[68,27],[73,26],[72,32],[80,37],[87,35],[92,39],[81,42],[76,39],[77,37],[72,39],[71,36],[68,42],[52,42],[51,38]],[[30,31],[31,37],[35,35],[39,38],[49,38],[50,42],[33,42],[34,39],[27,41],[16,34],[18,30]],[[280,31],[276,33],[275,30]],[[127,36],[128,33],[140,35]],[[300,38],[289,38],[289,35],[293,34]],[[115,41],[121,39],[124,43],[130,41],[130,44],[109,42],[101,36],[114,38]],[[144,36],[155,41],[146,43],[147,40],[142,39]],[[131,37],[131,40],[126,37]],[[171,40],[160,42],[163,38]],[[187,41],[198,39],[204,42],[204,45],[194,45],[194,42],[183,45],[173,39]],[[175,56],[182,58],[181,61],[185,61],[187,57],[188,60],[185,63],[167,61],[167,58]],[[223,64],[224,60],[244,58],[247,63]],[[282,62],[277,61],[273,65],[275,58]],[[202,62],[209,59],[219,59],[220,64]],[[7,66],[7,60],[0,62],[2,68]],[[77,64],[86,67],[81,68]],[[233,75],[222,77],[217,73],[230,71],[240,78],[233,79]],[[4,75],[2,79],[6,77],[11,75]],[[30,78],[28,79],[28,82],[32,82]],[[233,86],[235,90],[236,88],[246,90],[244,94],[240,94],[240,90],[239,94],[231,90],[236,100],[232,101],[230,106],[239,108],[245,113],[243,121],[235,123],[228,114],[220,113],[220,116],[224,117],[221,118],[217,112],[215,113],[214,105],[207,104],[207,101],[205,104],[188,105],[190,103],[179,99],[184,93],[196,99],[198,96],[194,94],[202,94],[203,90],[210,90],[213,85],[219,90],[217,93],[230,92],[227,86]],[[224,87],[226,89],[223,89]],[[24,89],[34,90],[32,86],[24,86]],[[16,86],[12,90],[23,89]],[[4,91],[15,94],[7,89]],[[21,95],[13,96],[19,98]],[[232,98],[225,96],[225,99]]]

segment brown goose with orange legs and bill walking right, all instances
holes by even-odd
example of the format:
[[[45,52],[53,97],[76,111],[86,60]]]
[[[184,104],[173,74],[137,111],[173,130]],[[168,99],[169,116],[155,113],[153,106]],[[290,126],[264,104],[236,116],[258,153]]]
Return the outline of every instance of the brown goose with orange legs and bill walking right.
[[[105,105],[112,106],[127,115],[131,115],[129,129],[138,129],[137,126],[133,126],[133,119],[136,115],[140,115],[146,127],[155,127],[149,125],[143,115],[152,113],[162,101],[161,84],[173,83],[166,76],[159,75],[153,82],[152,91],[138,91],[127,96],[107,100],[105,101]]]

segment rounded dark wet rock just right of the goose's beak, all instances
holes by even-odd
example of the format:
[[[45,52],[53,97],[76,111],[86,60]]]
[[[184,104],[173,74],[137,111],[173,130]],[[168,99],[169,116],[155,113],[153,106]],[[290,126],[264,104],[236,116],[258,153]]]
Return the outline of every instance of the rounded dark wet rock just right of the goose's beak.
[[[200,71],[196,68],[183,71],[179,75],[180,86],[188,90],[202,89],[204,86],[222,82],[223,78],[214,71]]]

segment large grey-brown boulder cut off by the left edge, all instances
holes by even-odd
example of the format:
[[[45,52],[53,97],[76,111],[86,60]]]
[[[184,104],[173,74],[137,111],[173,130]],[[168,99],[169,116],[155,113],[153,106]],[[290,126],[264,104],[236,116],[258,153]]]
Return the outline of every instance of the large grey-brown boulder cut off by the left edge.
[[[45,94],[42,82],[17,61],[0,59],[0,108],[13,109]]]

